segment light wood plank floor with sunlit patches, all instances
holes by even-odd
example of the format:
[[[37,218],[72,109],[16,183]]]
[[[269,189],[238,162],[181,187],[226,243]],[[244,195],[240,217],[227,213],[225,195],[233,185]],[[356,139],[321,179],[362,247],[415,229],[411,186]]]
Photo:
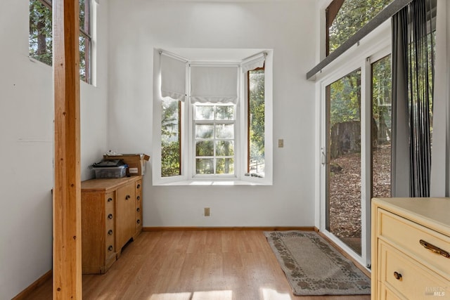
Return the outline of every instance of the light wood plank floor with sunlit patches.
[[[51,299],[51,280],[30,299]],[[258,230],[143,232],[103,275],[83,275],[83,299],[323,300],[293,296]]]

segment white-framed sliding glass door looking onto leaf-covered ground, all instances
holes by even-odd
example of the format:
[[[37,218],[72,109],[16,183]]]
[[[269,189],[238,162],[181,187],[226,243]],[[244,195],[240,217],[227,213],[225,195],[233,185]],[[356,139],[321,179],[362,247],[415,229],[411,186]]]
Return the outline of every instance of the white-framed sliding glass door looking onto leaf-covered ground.
[[[390,56],[361,61],[328,82],[323,84],[323,229],[369,266],[371,198],[391,195]]]

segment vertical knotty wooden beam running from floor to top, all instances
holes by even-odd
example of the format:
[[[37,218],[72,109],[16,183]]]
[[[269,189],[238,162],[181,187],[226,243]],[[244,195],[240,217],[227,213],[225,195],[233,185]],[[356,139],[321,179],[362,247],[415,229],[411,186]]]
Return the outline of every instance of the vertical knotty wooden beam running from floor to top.
[[[82,299],[78,39],[78,0],[53,0],[53,299]]]

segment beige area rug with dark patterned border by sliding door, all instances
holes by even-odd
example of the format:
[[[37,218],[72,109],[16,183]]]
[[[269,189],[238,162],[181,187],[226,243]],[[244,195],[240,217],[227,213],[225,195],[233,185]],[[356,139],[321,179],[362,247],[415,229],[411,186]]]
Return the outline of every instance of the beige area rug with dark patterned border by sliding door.
[[[295,295],[371,294],[371,280],[314,231],[264,235]]]

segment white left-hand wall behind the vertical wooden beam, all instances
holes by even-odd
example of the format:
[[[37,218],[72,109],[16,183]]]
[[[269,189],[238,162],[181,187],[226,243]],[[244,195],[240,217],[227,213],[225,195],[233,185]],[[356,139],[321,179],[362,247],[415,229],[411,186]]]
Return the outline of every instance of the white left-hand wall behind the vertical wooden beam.
[[[97,46],[107,53],[103,2]],[[0,299],[22,292],[52,264],[53,71],[28,58],[28,5],[9,1],[0,10]],[[107,145],[106,63],[98,56],[98,87],[81,84],[82,179],[91,178],[88,165]]]

